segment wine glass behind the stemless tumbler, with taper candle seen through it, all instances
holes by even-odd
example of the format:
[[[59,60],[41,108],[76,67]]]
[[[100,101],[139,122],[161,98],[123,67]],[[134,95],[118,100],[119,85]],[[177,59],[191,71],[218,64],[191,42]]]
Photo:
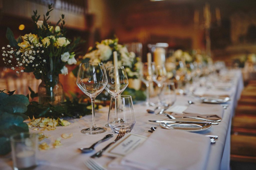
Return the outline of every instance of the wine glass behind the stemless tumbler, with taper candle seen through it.
[[[128,86],[128,78],[126,75],[126,71],[123,66],[119,67],[106,67],[106,74],[108,78],[108,84],[106,85],[105,89],[109,92],[110,95],[115,97],[113,100],[115,101],[115,111],[118,112],[118,96],[125,90]],[[116,116],[117,118],[117,116]],[[115,120],[117,121],[117,120]],[[122,121],[122,120],[119,120]],[[109,126],[106,124],[105,126]]]

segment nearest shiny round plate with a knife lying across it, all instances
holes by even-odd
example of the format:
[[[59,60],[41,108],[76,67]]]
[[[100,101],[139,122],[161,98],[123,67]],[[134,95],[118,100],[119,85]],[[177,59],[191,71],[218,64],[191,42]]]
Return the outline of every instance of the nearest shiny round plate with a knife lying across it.
[[[178,118],[178,119],[167,119],[165,121],[196,121],[196,122],[206,122],[198,119],[190,118]],[[186,123],[160,123],[160,126],[165,129],[174,129],[174,130],[185,130],[189,132],[199,132],[206,129],[209,129],[211,125],[200,125],[200,124],[186,124]]]

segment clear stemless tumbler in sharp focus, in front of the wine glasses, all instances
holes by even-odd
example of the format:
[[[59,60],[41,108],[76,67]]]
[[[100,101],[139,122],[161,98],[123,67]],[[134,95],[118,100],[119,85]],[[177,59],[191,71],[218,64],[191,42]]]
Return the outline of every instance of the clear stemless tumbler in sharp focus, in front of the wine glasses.
[[[120,129],[124,129],[125,133],[131,132],[136,123],[131,96],[111,97],[108,123],[114,133],[119,133]]]

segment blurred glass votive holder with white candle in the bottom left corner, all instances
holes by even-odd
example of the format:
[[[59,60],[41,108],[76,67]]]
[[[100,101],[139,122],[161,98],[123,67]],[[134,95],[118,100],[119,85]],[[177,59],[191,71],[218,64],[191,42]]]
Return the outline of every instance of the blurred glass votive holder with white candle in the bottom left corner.
[[[38,135],[18,133],[10,137],[14,170],[33,169],[37,165]]]

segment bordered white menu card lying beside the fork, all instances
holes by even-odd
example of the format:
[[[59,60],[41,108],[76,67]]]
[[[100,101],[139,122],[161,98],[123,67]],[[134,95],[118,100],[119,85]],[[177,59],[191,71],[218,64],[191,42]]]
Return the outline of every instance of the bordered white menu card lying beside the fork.
[[[140,146],[146,139],[146,136],[128,134],[110,146],[105,152],[103,152],[103,155],[116,158],[123,157]]]

